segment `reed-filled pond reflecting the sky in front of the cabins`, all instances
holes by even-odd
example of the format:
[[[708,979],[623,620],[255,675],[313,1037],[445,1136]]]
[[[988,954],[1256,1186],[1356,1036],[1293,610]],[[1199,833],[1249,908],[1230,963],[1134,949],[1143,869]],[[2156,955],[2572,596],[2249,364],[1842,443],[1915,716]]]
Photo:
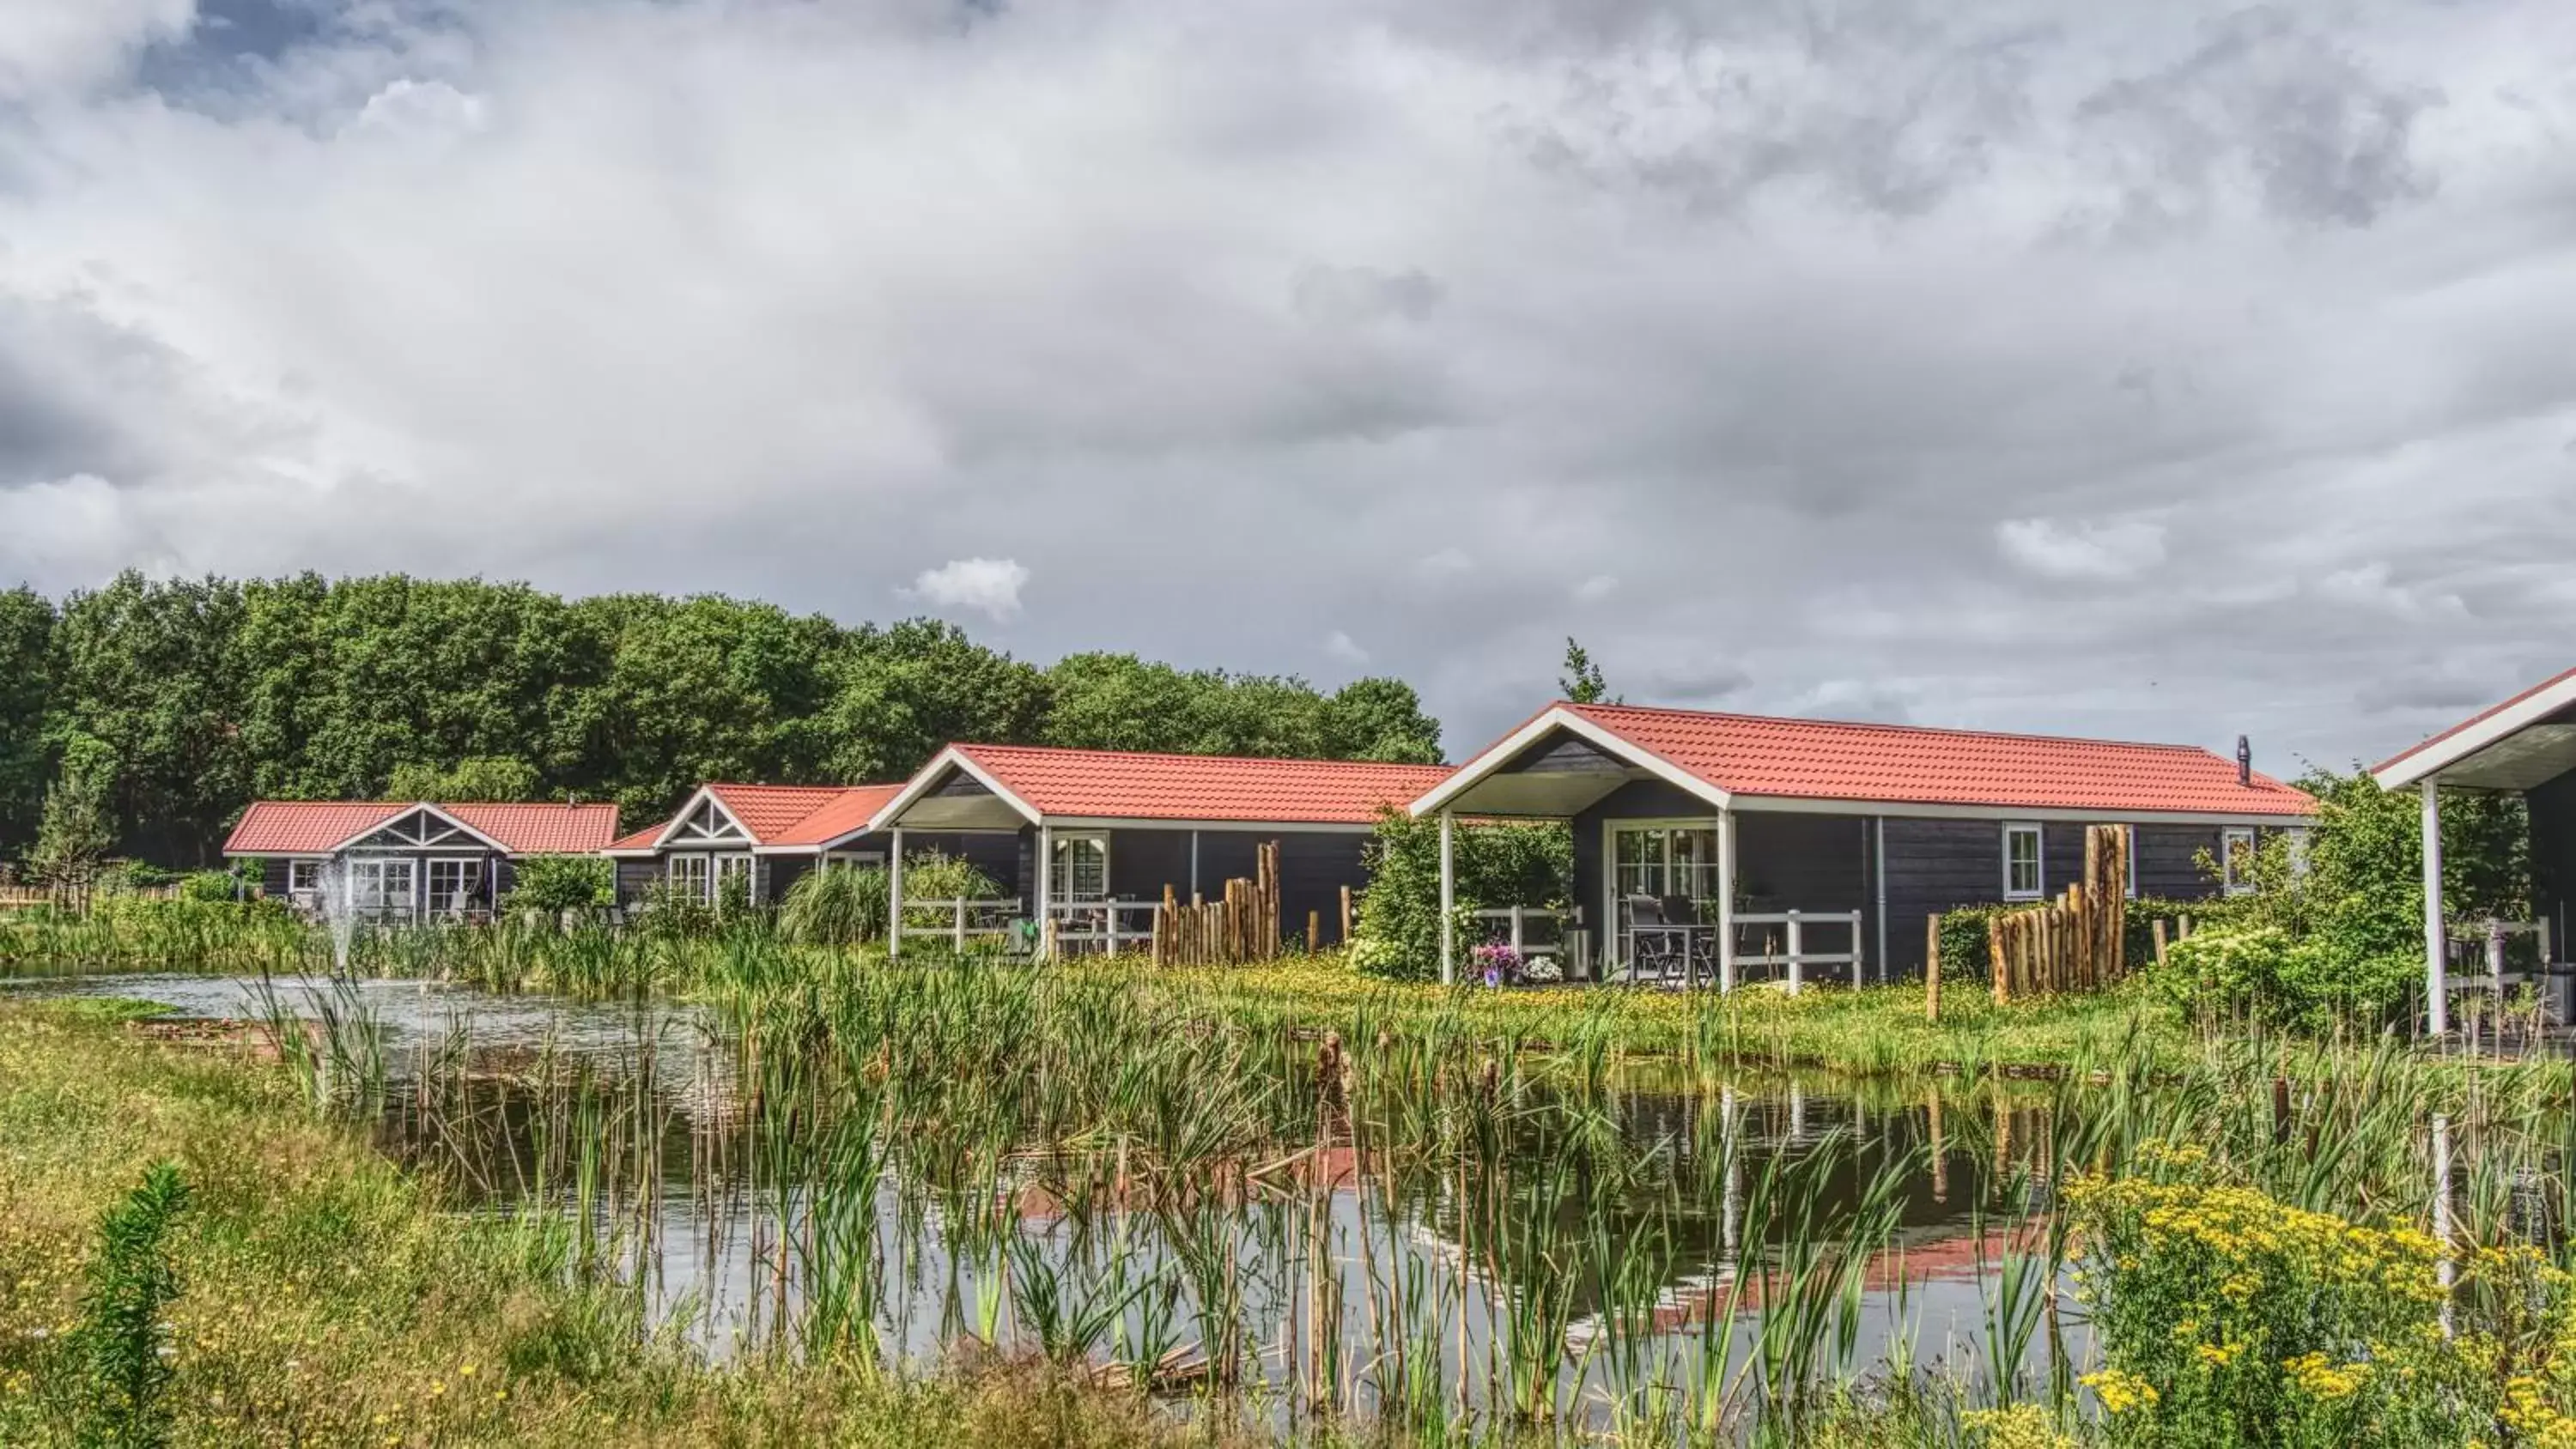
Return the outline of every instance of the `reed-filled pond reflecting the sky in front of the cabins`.
[[[1036,1011],[1100,1053],[984,1055],[1028,1029],[1015,988],[889,1017],[866,1050],[417,981],[10,991],[322,1022],[286,1055],[389,1156],[719,1359],[979,1341],[1270,1418],[1404,1400],[1633,1431],[1736,1421],[1819,1372],[2087,1356],[2043,1228],[2074,1127],[2045,1091],[1383,1042],[1355,1066],[1311,1037],[1164,1053],[1084,1001]]]

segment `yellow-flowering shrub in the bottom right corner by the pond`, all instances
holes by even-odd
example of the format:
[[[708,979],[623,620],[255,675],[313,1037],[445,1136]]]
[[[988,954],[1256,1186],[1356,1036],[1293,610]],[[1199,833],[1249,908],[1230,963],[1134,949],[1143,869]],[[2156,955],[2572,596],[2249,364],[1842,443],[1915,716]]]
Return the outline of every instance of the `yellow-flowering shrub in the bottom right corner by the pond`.
[[[2084,1385],[2110,1444],[2465,1446],[2494,1444],[2499,1423],[2576,1444],[2568,1277],[2537,1251],[2450,1253],[2244,1186],[2154,1181],[2156,1153],[2146,1166],[2069,1186],[2079,1297],[2107,1356]]]

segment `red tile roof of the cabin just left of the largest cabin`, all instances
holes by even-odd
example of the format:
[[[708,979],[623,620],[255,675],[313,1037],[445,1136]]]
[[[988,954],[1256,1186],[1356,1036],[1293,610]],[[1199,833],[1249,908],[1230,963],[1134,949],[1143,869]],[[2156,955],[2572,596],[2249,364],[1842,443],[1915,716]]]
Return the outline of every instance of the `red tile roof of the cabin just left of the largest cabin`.
[[[958,754],[1043,816],[1365,826],[1448,780],[1448,764],[1247,759],[961,744]]]

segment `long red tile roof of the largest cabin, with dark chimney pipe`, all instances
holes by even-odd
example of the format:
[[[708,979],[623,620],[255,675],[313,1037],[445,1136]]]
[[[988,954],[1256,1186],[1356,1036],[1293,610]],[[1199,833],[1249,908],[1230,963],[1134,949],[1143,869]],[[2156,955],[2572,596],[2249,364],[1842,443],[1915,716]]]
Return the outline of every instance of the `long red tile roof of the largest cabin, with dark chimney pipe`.
[[[1731,795],[2311,816],[2316,800],[2187,744],[2120,744],[1886,723],[1790,721],[1636,705],[1558,705]]]

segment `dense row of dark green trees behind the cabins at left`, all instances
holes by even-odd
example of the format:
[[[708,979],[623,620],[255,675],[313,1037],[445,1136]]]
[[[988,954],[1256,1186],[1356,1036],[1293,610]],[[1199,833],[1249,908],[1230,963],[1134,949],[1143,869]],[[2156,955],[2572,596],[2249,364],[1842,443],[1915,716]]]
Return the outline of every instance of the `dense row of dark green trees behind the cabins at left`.
[[[1041,667],[927,618],[404,574],[0,592],[0,860],[67,767],[124,854],[204,865],[255,798],[616,800],[634,829],[703,780],[899,780],[948,741],[1440,759],[1401,679]]]

